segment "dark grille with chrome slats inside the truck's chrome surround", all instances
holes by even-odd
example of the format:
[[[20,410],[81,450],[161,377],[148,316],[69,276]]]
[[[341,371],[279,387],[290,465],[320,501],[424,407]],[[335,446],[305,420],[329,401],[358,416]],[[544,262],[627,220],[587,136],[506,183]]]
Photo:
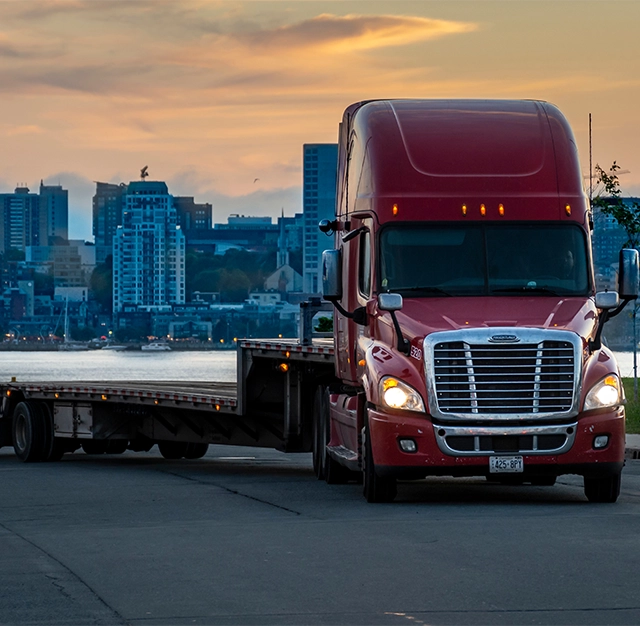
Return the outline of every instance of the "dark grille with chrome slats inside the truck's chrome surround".
[[[438,409],[443,415],[567,413],[573,405],[575,366],[569,341],[437,342]]]

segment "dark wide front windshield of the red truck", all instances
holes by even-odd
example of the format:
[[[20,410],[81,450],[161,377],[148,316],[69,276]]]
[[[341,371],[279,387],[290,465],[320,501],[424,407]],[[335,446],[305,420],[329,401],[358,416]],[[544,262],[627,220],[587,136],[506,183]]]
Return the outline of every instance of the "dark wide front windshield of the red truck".
[[[586,240],[570,224],[406,224],[380,234],[379,286],[406,297],[589,293]]]

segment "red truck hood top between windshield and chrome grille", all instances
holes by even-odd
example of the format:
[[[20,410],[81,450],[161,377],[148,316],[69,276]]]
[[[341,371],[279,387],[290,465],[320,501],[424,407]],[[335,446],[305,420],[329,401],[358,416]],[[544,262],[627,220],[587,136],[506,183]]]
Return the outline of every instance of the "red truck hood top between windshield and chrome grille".
[[[595,332],[593,298],[407,298],[396,314],[407,339],[460,328],[528,327],[570,330],[583,339]]]

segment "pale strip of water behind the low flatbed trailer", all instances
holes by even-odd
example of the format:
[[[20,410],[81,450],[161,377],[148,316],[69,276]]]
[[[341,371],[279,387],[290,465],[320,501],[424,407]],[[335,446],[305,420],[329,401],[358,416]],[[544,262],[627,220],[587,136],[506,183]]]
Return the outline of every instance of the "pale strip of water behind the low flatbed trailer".
[[[235,382],[235,350],[3,352],[0,382],[189,380]]]

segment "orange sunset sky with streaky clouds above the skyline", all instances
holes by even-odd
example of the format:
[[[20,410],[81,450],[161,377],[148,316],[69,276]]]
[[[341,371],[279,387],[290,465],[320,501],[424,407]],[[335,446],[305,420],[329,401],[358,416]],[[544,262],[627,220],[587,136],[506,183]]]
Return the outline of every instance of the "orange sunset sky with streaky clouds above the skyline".
[[[634,0],[0,0],[0,192],[62,184],[89,240],[92,181],[145,165],[216,222],[293,215],[351,102],[472,97],[558,105],[585,175],[591,113],[640,195],[639,28]]]

